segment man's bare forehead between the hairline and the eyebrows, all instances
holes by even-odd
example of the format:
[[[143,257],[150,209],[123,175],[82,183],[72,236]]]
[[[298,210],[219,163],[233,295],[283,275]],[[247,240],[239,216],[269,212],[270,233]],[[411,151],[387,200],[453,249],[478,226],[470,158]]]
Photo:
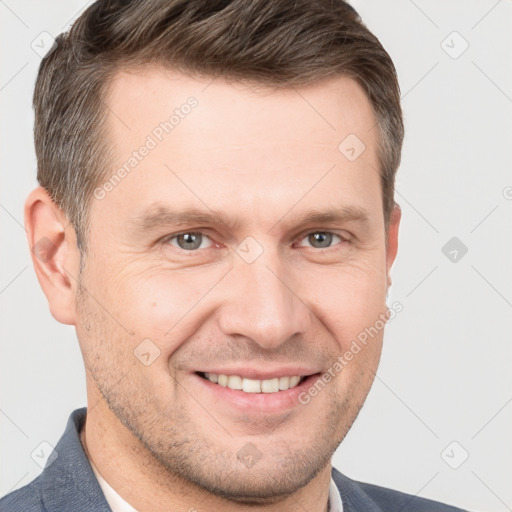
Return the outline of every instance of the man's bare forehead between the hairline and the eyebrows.
[[[269,89],[146,66],[119,72],[107,105],[105,180],[125,172],[103,206],[118,214],[167,202],[279,215],[349,196],[381,209],[378,130],[349,78]]]

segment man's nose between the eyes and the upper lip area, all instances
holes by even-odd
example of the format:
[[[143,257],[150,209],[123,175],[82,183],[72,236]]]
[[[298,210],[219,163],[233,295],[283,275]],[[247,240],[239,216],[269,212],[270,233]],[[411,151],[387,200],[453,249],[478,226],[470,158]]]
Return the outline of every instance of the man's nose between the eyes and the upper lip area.
[[[269,350],[303,334],[312,313],[298,296],[292,272],[286,271],[278,257],[262,255],[252,263],[236,260],[224,282],[222,331],[250,338]]]

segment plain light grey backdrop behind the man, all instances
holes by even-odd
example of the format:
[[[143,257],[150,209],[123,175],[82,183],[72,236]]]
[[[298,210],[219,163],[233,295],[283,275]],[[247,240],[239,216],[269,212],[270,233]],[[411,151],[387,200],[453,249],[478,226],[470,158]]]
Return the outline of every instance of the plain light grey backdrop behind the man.
[[[23,228],[36,186],[40,57],[31,44],[86,5],[0,0],[0,496],[41,472],[31,454],[55,445],[71,410],[86,404],[74,328],[50,315]],[[404,310],[333,462],[353,478],[473,511],[512,510],[512,2],[353,5],[391,54],[403,93],[390,303]],[[454,248],[441,250],[452,237],[468,248],[462,257],[455,249],[456,262]]]

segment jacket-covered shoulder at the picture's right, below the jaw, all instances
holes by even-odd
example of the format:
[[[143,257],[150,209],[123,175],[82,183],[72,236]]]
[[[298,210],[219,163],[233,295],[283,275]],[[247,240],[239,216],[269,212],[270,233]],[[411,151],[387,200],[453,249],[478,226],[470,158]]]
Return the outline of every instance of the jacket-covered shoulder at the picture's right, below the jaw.
[[[452,505],[432,501],[386,487],[351,480],[333,468],[332,478],[340,491],[347,512],[467,512]],[[345,507],[345,504],[347,505]]]

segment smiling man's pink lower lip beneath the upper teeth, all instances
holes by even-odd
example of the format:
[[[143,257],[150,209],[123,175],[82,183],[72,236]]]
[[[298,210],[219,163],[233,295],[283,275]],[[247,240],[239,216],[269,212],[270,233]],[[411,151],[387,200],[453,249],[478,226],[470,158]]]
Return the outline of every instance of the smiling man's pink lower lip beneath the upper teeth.
[[[278,391],[277,393],[246,393],[245,391],[220,386],[196,373],[191,375],[207,393],[212,393],[215,398],[226,402],[238,411],[266,414],[285,412],[297,405],[303,405],[298,399],[299,395],[313,386],[321,376],[320,373],[310,375],[294,388]]]

